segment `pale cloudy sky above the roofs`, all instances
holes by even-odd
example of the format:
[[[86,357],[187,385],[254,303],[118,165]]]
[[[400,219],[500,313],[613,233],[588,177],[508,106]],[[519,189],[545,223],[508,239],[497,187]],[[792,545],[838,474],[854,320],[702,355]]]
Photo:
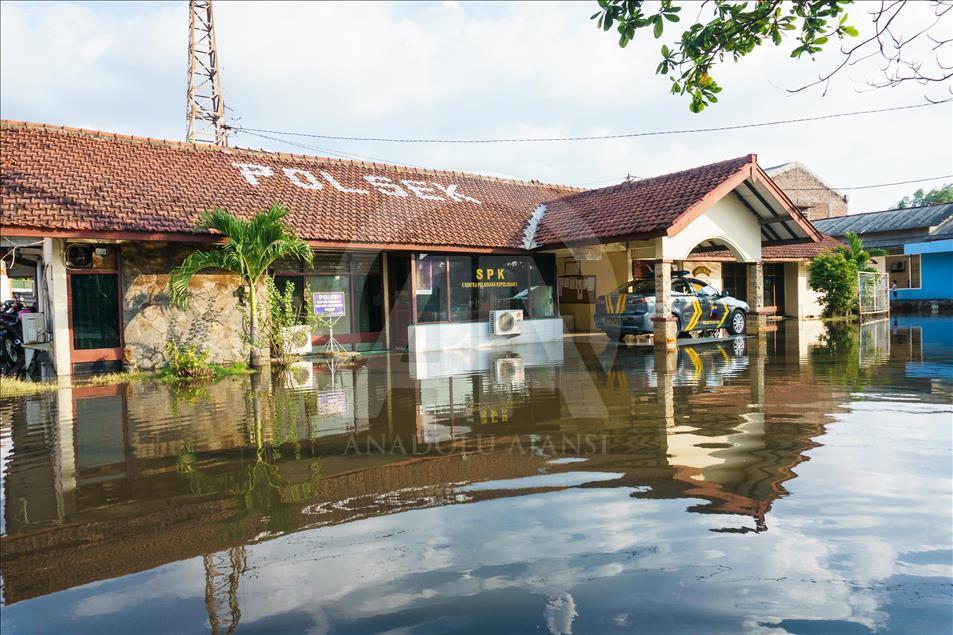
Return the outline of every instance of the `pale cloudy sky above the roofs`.
[[[851,21],[870,29],[868,6]],[[949,85],[869,90],[878,60],[792,94],[840,60],[765,46],[715,71],[701,114],[654,74],[660,42],[621,49],[595,2],[215,2],[222,89],[233,125],[389,137],[551,137],[735,125],[923,103]],[[691,8],[684,25],[694,15]],[[938,28],[953,35],[953,16]],[[912,34],[932,19],[911,4]],[[664,38],[663,40],[664,41]],[[188,4],[0,3],[0,116],[184,139]],[[422,145],[293,138],[370,160],[601,187],[748,153],[800,161],[834,187],[953,173],[953,104],[772,128],[611,141]],[[251,136],[231,145],[322,154]],[[930,181],[846,190],[851,213],[887,209]]]

